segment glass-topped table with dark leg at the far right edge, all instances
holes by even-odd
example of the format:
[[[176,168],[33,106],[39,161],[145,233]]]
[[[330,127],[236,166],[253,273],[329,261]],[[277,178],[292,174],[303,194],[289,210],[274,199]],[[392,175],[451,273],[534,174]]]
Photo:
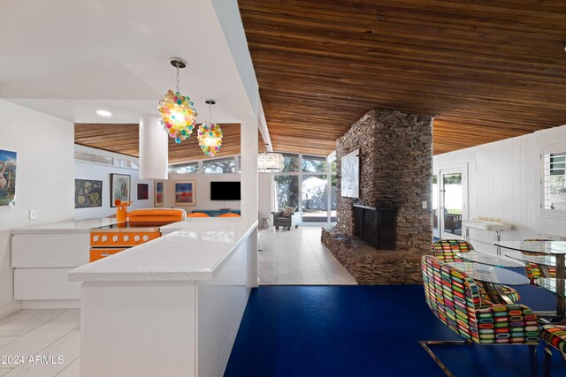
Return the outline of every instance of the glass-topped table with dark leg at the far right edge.
[[[566,279],[566,241],[497,241],[494,245],[515,252],[513,256],[526,262],[555,267],[555,283],[546,280],[538,285],[555,292],[556,314],[566,315],[566,286],[563,283]]]

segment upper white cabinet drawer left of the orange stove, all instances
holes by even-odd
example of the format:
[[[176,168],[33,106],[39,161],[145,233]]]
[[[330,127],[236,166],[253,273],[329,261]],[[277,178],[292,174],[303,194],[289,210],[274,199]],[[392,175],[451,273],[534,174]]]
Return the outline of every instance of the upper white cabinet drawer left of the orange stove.
[[[14,234],[12,268],[75,268],[88,263],[88,233]]]

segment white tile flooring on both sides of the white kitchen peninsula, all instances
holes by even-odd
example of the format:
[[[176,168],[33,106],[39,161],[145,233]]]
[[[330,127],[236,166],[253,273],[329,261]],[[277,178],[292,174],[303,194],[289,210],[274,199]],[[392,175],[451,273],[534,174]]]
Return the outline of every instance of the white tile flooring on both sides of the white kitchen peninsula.
[[[353,285],[356,280],[320,242],[320,227],[260,232],[261,284]],[[21,310],[0,319],[0,358],[23,356],[24,364],[5,364],[0,376],[78,377],[80,375],[79,309]],[[62,364],[30,364],[29,357],[63,356]]]

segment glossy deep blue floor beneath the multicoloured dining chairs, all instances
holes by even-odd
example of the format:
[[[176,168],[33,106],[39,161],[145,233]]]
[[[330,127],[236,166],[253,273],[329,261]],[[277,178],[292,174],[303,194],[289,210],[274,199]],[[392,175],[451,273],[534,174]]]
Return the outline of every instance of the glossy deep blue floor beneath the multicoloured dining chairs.
[[[555,307],[546,290],[519,290],[533,310]],[[225,376],[443,376],[417,341],[459,339],[434,317],[422,285],[262,286],[251,292]],[[432,350],[457,377],[530,375],[526,346]],[[553,361],[552,375],[565,376],[557,354]]]

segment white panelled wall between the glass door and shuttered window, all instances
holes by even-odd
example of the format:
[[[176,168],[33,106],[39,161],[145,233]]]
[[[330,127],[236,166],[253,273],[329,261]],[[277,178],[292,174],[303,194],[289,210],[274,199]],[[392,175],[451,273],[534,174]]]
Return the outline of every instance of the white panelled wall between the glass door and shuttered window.
[[[435,155],[434,170],[468,164],[469,218],[491,217],[513,225],[503,240],[536,238],[539,234],[566,236],[566,218],[541,215],[539,207],[540,148],[566,143],[566,125]],[[493,251],[493,232],[470,230],[470,242]]]

